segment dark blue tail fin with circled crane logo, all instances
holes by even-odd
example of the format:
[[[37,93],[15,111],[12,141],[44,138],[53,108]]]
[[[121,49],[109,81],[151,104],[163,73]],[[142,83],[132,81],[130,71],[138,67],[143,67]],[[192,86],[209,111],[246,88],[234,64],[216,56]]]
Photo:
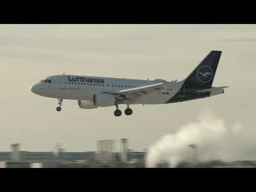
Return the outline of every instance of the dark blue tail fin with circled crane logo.
[[[211,51],[185,79],[186,87],[211,87],[221,51]]]

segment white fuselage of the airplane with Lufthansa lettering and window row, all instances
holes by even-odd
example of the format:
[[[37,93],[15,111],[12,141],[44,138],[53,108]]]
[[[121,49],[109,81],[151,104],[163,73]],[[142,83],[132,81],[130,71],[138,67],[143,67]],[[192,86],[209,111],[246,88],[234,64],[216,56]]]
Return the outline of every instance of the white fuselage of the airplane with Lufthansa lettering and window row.
[[[49,81],[50,80],[50,81]],[[163,81],[163,80],[162,80]],[[58,99],[92,100],[92,95],[102,92],[117,92],[161,82],[138,79],[54,75],[31,87],[35,94]],[[181,88],[183,81],[170,82],[165,90],[140,95],[140,97],[124,100],[125,104],[163,104],[170,100]]]

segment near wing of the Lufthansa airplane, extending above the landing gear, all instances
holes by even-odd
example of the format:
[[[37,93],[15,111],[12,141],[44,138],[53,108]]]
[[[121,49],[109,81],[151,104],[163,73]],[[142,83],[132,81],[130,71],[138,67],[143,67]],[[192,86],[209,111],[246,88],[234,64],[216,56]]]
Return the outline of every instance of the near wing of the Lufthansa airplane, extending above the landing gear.
[[[127,89],[127,90],[121,90],[117,92],[102,92],[106,94],[114,94],[117,95],[118,97],[122,98],[134,98],[134,97],[139,97],[143,94],[147,94],[149,92],[153,91],[159,91],[161,89],[164,89],[164,85],[166,85],[167,82],[161,82],[153,85],[147,85],[147,86],[142,86],[142,87],[137,87],[133,89]]]

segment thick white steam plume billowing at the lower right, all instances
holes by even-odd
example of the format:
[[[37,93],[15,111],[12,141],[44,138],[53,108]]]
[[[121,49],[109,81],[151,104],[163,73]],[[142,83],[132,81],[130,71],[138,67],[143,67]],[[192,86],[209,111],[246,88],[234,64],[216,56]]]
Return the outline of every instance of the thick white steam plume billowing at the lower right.
[[[256,158],[256,131],[235,123],[227,127],[221,118],[206,112],[197,122],[182,126],[179,131],[165,135],[148,150],[147,167],[167,162],[171,167],[191,161],[193,149],[198,147],[199,162],[213,160],[237,161]]]

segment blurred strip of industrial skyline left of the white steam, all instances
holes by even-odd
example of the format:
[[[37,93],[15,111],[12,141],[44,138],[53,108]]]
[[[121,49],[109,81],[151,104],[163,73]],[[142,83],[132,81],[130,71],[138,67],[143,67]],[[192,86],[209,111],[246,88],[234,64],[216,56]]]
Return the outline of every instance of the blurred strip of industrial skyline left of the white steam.
[[[129,150],[127,139],[120,142],[120,152],[115,152],[115,140],[99,140],[97,151],[87,152],[66,152],[60,145],[54,151],[30,152],[14,143],[10,152],[0,152],[0,168],[145,167],[145,153]]]

